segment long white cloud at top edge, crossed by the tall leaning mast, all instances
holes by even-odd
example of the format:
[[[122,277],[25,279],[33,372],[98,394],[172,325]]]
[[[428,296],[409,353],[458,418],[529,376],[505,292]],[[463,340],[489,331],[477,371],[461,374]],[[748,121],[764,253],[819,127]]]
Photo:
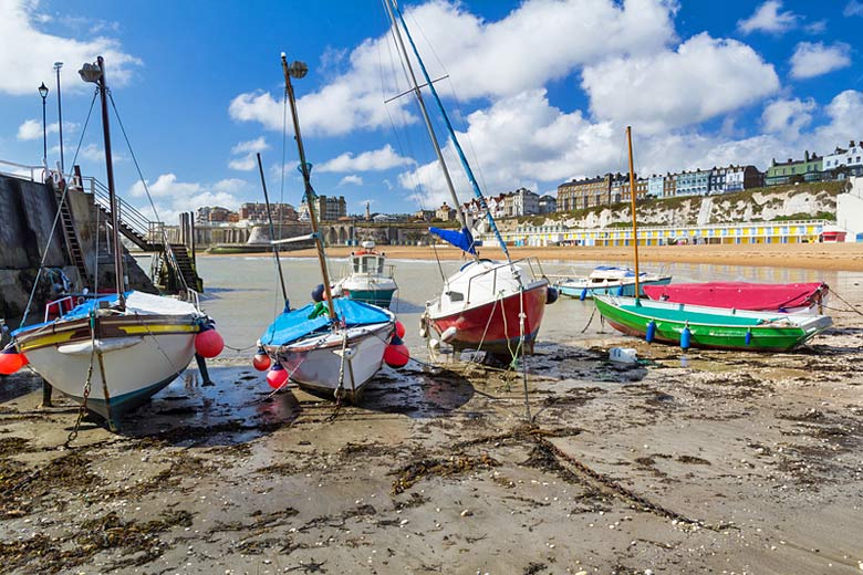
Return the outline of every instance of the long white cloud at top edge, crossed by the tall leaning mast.
[[[438,84],[444,97],[448,83],[458,86],[461,98],[496,98],[534,90],[597,59],[661,50],[675,38],[675,11],[676,3],[668,0],[536,0],[491,22],[461,3],[432,0],[409,8],[405,19],[432,77],[449,75]],[[388,108],[383,104],[385,97],[405,91],[388,33],[366,40],[347,60],[344,73],[298,102],[304,133],[340,135],[416,121],[408,112],[409,97]],[[382,66],[382,61],[391,63]],[[447,69],[438,62],[446,62]],[[268,129],[282,126],[282,104],[267,92],[238,95],[229,113]]]

